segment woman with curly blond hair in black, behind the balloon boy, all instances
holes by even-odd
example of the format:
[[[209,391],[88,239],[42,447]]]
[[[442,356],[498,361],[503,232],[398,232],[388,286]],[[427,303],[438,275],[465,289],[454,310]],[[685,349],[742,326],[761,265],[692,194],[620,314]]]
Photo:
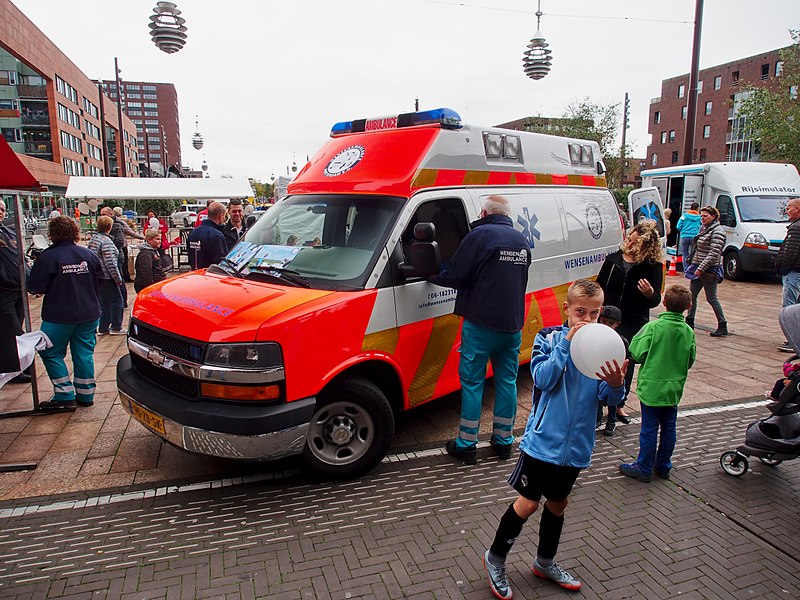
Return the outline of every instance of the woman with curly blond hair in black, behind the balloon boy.
[[[606,256],[597,283],[603,288],[604,303],[619,308],[622,313],[617,332],[630,341],[650,320],[650,309],[661,302],[661,285],[664,281],[664,251],[653,221],[642,221],[628,230],[619,250]],[[627,398],[633,382],[633,365],[625,374]],[[609,410],[605,435],[614,435],[616,422],[629,423],[623,410],[623,401],[617,410]]]

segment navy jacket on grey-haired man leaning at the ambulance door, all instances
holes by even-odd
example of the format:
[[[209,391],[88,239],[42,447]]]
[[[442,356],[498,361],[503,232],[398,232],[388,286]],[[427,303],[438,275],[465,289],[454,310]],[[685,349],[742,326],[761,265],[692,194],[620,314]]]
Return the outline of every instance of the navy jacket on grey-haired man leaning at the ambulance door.
[[[525,322],[528,240],[504,215],[488,215],[471,226],[450,262],[430,281],[458,290],[453,312],[470,323],[517,332]]]

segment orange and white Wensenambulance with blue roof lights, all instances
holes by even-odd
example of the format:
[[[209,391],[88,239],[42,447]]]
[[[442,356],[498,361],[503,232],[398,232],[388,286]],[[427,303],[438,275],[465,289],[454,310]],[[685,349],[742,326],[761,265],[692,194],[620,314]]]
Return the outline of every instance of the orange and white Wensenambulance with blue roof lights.
[[[400,412],[460,387],[456,292],[426,277],[484,199],[508,198],[532,252],[523,363],[563,321],[569,283],[622,240],[604,173],[595,142],[469,126],[450,109],[337,123],[220,264],[138,295],[122,405],[190,452],[362,474]]]

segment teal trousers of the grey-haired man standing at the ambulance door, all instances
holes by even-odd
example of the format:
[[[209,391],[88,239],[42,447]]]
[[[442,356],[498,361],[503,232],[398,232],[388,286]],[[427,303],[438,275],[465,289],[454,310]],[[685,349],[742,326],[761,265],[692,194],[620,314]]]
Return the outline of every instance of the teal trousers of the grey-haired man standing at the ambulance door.
[[[486,364],[494,370],[494,424],[492,441],[511,444],[514,441],[514,419],[517,416],[517,371],[522,334],[494,331],[478,327],[466,319],[461,326],[461,423],[456,438],[457,448],[474,447],[478,443],[478,427],[483,404]]]

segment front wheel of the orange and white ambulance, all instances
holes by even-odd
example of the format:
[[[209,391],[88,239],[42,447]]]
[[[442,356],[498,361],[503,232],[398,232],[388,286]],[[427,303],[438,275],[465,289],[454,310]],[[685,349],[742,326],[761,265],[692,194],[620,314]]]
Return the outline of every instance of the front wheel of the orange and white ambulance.
[[[384,393],[366,379],[345,379],[317,403],[303,459],[327,477],[356,477],[386,456],[393,435],[394,414]]]

